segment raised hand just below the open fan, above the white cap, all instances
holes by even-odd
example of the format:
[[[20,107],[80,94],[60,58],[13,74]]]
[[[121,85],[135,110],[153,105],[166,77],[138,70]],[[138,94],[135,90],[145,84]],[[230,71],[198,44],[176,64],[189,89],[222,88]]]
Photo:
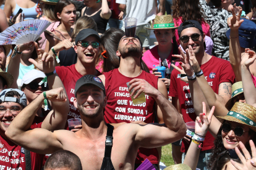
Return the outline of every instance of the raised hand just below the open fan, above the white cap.
[[[39,49],[38,44],[35,42],[35,50],[37,52],[37,62],[34,59],[28,59],[38,70],[44,73],[51,73],[55,70],[55,60],[53,55],[49,55],[43,49]]]

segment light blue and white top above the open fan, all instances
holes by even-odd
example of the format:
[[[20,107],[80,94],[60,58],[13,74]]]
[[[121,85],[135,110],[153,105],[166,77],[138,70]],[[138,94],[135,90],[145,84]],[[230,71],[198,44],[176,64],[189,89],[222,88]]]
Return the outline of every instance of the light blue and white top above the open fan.
[[[15,2],[16,2],[16,0],[15,0]],[[24,20],[34,20],[34,19],[36,19],[36,16],[38,14],[36,12],[37,3],[38,3],[38,1],[36,1],[35,6],[33,6],[33,7],[23,8],[23,7],[18,6],[18,4],[16,2],[15,10],[12,14],[15,16],[18,13],[19,9],[22,9],[23,10],[22,13],[25,15]]]

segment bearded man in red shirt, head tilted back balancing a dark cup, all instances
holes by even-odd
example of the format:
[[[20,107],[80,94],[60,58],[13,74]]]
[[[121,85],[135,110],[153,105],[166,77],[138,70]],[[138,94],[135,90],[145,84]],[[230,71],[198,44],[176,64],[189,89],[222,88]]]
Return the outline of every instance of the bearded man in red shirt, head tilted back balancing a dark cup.
[[[146,102],[134,105],[128,91],[127,84],[130,85],[129,82],[136,78],[142,83],[142,88],[143,82],[147,82],[158,89],[166,99],[168,97],[163,81],[141,68],[143,52],[140,39],[137,36],[122,37],[116,55],[120,57],[119,68],[100,76],[105,84],[108,99],[104,114],[106,123],[114,123],[114,126],[118,126],[119,123],[147,124],[154,123],[155,116],[158,117],[159,123],[163,123],[162,111],[153,97],[145,95]],[[146,159],[159,169],[160,156],[161,150],[158,152],[156,148],[140,148],[135,160],[135,169]]]

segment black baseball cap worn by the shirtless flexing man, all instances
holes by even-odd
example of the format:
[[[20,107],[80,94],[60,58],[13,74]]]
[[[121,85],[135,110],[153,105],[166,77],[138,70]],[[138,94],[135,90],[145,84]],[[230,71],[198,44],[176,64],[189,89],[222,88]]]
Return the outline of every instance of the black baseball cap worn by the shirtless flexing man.
[[[82,87],[85,84],[93,84],[95,86],[100,87],[106,95],[105,86],[100,78],[98,78],[95,75],[85,75],[82,76],[82,78],[78,79],[77,83],[75,83],[75,97],[77,96],[77,91],[80,89],[80,87]]]

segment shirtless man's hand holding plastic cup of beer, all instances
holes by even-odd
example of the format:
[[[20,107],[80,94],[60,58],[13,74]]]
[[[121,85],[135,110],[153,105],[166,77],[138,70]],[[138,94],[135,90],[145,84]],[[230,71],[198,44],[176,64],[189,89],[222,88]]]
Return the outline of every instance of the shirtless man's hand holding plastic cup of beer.
[[[139,79],[139,78],[132,79],[129,82],[129,85],[130,85],[129,92],[131,92],[132,89],[134,89],[130,94],[130,96],[133,96],[135,92],[138,91],[137,94],[134,96],[134,99],[136,99],[142,92],[151,97],[155,96],[159,92],[155,87],[151,86],[151,84],[145,81],[145,79]]]

